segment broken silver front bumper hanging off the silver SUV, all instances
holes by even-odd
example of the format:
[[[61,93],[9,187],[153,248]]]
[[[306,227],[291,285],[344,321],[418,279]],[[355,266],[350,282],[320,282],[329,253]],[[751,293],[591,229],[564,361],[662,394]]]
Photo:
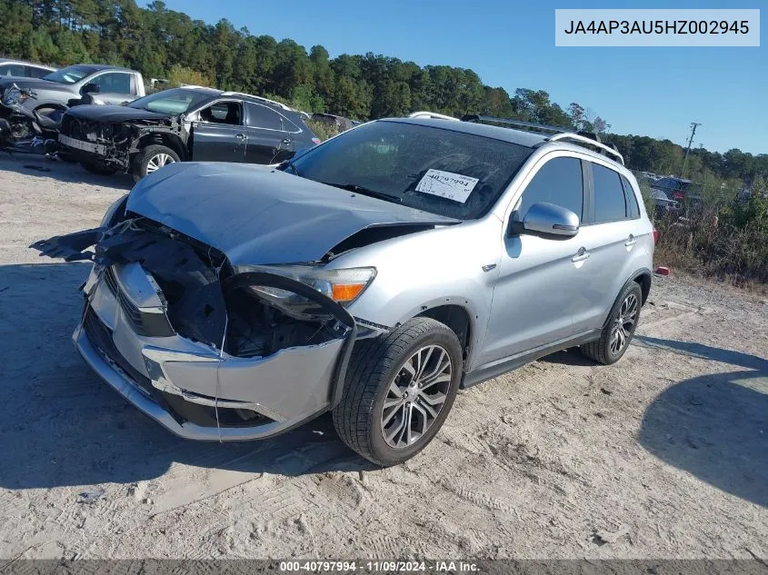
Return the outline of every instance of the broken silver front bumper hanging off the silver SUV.
[[[110,387],[167,430],[202,441],[264,439],[338,401],[354,325],[346,337],[329,342],[267,357],[234,357],[174,332],[142,335],[136,311],[153,309],[151,283],[144,282],[138,264],[115,269],[111,282],[105,273],[92,272],[85,283],[75,348]],[[223,422],[219,415],[225,411],[250,415]]]

